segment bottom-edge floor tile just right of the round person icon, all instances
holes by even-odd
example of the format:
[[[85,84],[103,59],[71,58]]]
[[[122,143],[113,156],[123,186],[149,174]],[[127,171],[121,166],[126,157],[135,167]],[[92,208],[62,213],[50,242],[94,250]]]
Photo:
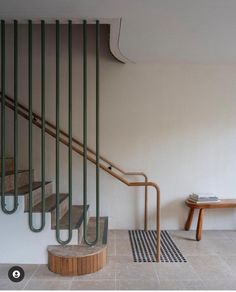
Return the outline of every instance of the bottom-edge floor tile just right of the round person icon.
[[[30,280],[24,290],[68,290],[70,281],[65,280]]]

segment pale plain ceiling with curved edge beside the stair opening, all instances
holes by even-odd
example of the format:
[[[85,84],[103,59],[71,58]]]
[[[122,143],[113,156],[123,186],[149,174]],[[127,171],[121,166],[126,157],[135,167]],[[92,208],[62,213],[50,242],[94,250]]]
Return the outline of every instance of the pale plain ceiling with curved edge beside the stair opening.
[[[0,17],[121,19],[127,61],[236,63],[236,0],[0,0]]]

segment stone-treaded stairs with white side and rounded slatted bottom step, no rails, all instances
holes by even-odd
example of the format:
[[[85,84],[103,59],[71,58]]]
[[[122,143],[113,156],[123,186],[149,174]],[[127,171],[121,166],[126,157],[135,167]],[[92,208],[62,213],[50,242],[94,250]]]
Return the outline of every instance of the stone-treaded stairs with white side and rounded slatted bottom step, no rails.
[[[0,160],[1,166],[2,160]],[[5,159],[5,196],[6,204],[10,204],[14,196],[14,159]],[[0,180],[2,183],[2,179]],[[106,264],[106,252],[107,252],[107,231],[108,231],[108,218],[100,217],[100,239],[96,246],[88,246],[83,242],[83,206],[73,205],[72,212],[72,229],[73,238],[70,245],[56,245],[55,229],[56,229],[56,195],[53,193],[53,183],[45,182],[45,212],[46,212],[46,228],[45,231],[40,234],[32,233],[28,230],[27,223],[23,223],[28,219],[29,212],[29,171],[18,171],[18,197],[19,207],[15,214],[6,215],[0,213],[0,230],[6,229],[5,223],[7,223],[7,230],[14,233],[12,243],[7,240],[7,245],[4,246],[4,239],[1,240],[1,262],[16,263],[18,256],[22,253],[25,255],[26,263],[29,263],[29,259],[35,263],[33,253],[42,253],[44,255],[45,245],[48,243],[48,268],[55,273],[61,275],[83,275],[93,273],[104,267]],[[33,178],[33,193],[32,193],[32,210],[34,214],[34,220],[40,219],[42,212],[41,206],[41,187],[42,183],[34,181]],[[89,206],[87,206],[87,209]],[[68,226],[68,194],[60,194],[59,199],[59,226],[64,235],[69,229]],[[5,217],[5,218],[3,218]],[[6,221],[7,217],[7,221]],[[4,220],[5,219],[5,220]],[[16,220],[17,219],[17,220]],[[25,227],[25,231],[22,232],[22,227]],[[20,230],[19,230],[20,229]],[[18,231],[20,231],[18,237]],[[7,235],[8,236],[9,232]],[[46,236],[45,236],[46,235]],[[88,239],[93,240],[95,236],[95,217],[90,217],[88,220]],[[41,238],[38,241],[38,238]],[[22,241],[23,240],[23,241]],[[17,241],[17,242],[16,242]],[[42,244],[42,241],[44,244]],[[12,245],[11,245],[12,244]],[[24,246],[22,245],[24,244]],[[32,250],[32,251],[31,251]],[[9,252],[12,254],[9,256]],[[32,254],[31,254],[32,253]],[[4,258],[4,254],[7,258]],[[22,260],[21,262],[22,263]],[[41,262],[42,263],[42,262]]]

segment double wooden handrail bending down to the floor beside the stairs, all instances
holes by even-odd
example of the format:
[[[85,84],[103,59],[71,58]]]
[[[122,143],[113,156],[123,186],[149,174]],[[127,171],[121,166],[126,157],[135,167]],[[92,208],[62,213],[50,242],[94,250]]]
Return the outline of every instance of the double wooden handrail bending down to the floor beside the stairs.
[[[1,92],[0,92],[1,94]],[[5,105],[10,108],[11,110],[15,111],[15,106],[14,106],[14,100],[9,97],[9,96],[5,96],[6,98],[6,102],[5,102]],[[0,98],[0,101],[2,101],[2,99]],[[23,110],[23,111],[22,111]],[[28,115],[28,109],[18,103],[18,114],[20,116],[22,116],[23,118],[25,118],[26,120],[29,120],[29,115]],[[34,113],[33,112],[33,120],[32,120],[32,123],[37,126],[38,128],[41,129],[41,123],[38,121],[40,120],[41,121],[41,117]],[[45,124],[49,127],[51,127],[53,130],[56,129],[56,127],[48,122],[48,121],[45,121]],[[52,131],[52,129],[48,129],[47,127],[45,128],[45,132],[52,136],[53,138],[56,138],[56,134]],[[65,136],[66,138],[68,138],[68,134],[66,132],[64,132],[63,130],[60,130],[60,134],[62,134],[63,136]],[[82,147],[83,144],[76,140],[75,138],[72,139],[73,142],[75,144],[77,144],[78,146]],[[65,138],[62,138],[60,137],[59,138],[59,141],[68,146],[68,141],[65,139]],[[76,153],[78,153],[79,155],[84,155],[83,154],[83,151],[81,149],[79,149],[78,147],[75,147],[74,145],[72,146],[72,150]],[[95,152],[88,148],[88,151],[95,155]],[[92,162],[93,164],[96,164],[96,160],[95,158],[93,158],[92,156],[88,155],[87,156],[88,160],[90,162]],[[116,170],[118,170],[120,173],[122,173],[123,175],[127,175],[127,176],[137,176],[137,175],[140,175],[140,176],[143,176],[145,178],[145,181],[144,182],[129,182],[128,180],[126,180],[125,178],[123,178],[121,175],[117,174],[116,172],[114,172],[112,169],[110,168],[107,168],[104,164],[100,163],[99,164],[99,167],[104,170],[105,172],[109,173],[111,176],[113,176],[114,178],[118,179],[119,181],[121,181],[122,183],[124,183],[125,185],[129,186],[129,187],[145,187],[145,214],[144,214],[144,228],[145,230],[147,230],[147,225],[148,225],[148,213],[147,213],[147,199],[148,199],[148,193],[147,193],[147,189],[148,187],[153,187],[156,191],[156,233],[157,233],[157,245],[156,245],[156,260],[157,262],[160,261],[160,188],[159,186],[154,183],[154,182],[149,182],[148,181],[148,177],[145,173],[143,172],[125,172],[124,170],[122,170],[120,167],[118,167],[117,165],[115,165],[114,163],[112,163],[111,161],[109,161],[108,159],[100,156],[101,160],[103,160],[105,163],[109,164],[110,166],[114,167]]]

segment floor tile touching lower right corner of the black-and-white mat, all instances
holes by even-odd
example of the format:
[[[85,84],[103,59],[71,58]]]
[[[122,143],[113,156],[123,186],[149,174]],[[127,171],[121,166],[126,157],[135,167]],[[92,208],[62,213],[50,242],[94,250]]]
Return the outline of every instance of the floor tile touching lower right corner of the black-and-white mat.
[[[203,281],[234,277],[227,263],[217,255],[188,257],[187,260]]]

